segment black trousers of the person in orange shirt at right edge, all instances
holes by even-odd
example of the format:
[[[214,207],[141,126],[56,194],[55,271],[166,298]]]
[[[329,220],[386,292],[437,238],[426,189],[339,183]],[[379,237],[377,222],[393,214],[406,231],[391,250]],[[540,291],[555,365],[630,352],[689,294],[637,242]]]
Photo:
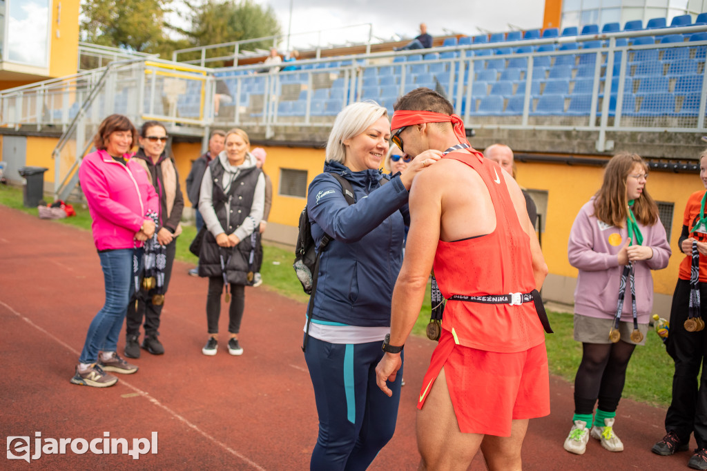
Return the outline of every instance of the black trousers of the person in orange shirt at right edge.
[[[697,375],[707,357],[707,330],[688,332],[683,323],[688,316],[690,282],[677,280],[670,310],[667,352],[675,362],[672,401],[665,415],[665,431],[674,431],[681,441],[694,432],[699,448],[707,448],[707,365]],[[707,283],[700,283],[700,315],[707,319]]]

